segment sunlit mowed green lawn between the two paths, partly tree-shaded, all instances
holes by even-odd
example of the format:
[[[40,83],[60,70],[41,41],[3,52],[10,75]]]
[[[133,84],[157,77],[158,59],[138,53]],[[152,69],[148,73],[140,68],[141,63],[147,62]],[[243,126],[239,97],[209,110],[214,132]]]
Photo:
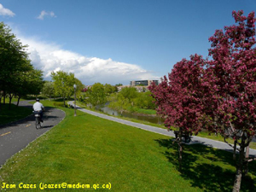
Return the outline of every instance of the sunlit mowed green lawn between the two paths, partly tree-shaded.
[[[79,111],[73,117],[73,109],[61,109],[67,113],[66,119],[0,169],[0,188],[4,182],[15,183],[17,188],[19,183],[36,184],[36,190],[39,183],[91,187],[111,183],[113,191],[232,190],[236,168],[231,153],[202,145],[185,146],[181,174],[177,171],[177,146],[170,137]],[[256,191],[255,167],[254,162],[250,164],[242,191]],[[12,190],[19,191],[17,188]]]

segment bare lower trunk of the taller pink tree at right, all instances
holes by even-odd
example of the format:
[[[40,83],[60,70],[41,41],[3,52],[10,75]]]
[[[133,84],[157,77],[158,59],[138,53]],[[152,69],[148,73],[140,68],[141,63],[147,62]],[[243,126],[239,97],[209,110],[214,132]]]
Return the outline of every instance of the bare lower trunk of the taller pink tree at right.
[[[245,137],[241,137],[241,145],[240,145],[240,152],[239,152],[239,161],[236,165],[236,177],[235,177],[235,182],[233,186],[233,192],[239,192],[240,187],[241,187],[241,174],[243,170],[243,162],[245,160],[245,154],[244,154],[244,149],[245,149]]]

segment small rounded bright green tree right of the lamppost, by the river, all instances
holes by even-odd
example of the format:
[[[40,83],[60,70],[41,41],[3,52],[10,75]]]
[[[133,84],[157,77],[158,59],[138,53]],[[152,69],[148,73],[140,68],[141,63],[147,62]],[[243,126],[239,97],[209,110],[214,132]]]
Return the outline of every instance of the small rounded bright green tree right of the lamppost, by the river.
[[[88,101],[92,106],[102,105],[107,102],[104,85],[100,83],[93,84],[90,91],[87,91]]]

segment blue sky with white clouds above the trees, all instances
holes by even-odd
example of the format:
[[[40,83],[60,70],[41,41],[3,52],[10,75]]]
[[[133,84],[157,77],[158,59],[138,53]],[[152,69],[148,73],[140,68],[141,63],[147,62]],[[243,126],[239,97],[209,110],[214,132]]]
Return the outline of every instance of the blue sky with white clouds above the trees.
[[[34,67],[85,85],[159,80],[183,58],[208,55],[216,29],[255,0],[0,0],[0,21],[27,44]]]

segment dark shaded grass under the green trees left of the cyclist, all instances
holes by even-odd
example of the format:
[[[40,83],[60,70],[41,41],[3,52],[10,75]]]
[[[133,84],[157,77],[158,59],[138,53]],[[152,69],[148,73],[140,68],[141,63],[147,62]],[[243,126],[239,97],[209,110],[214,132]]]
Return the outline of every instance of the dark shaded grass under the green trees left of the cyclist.
[[[0,108],[0,125],[23,119],[30,114],[32,114],[32,109],[16,107],[14,104],[11,104],[9,109],[9,103],[5,105],[2,103]]]

